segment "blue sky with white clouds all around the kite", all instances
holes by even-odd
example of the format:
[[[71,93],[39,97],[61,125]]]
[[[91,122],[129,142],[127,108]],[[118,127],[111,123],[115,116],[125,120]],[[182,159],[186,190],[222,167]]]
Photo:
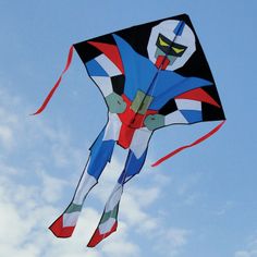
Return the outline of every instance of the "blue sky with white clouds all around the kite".
[[[0,0],[0,256],[256,257],[256,10],[254,0]],[[106,107],[75,54],[47,110],[28,113],[58,78],[72,44],[180,13],[198,34],[227,124],[152,169],[215,124],[159,131],[142,174],[127,184],[118,232],[86,249],[124,162],[117,149],[74,236],[53,237],[47,228],[73,195]]]

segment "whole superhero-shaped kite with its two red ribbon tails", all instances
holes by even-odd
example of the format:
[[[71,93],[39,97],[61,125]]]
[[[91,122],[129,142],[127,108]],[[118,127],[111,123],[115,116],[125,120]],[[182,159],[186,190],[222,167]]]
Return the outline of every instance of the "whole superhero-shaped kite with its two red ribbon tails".
[[[111,161],[114,146],[128,149],[123,171],[87,245],[94,247],[117,230],[124,184],[140,172],[156,130],[173,124],[222,121],[194,143],[162,157],[154,167],[210,137],[223,125],[225,117],[206,57],[186,14],[73,45],[65,69],[34,114],[48,105],[71,64],[74,49],[105,98],[108,121],[89,149],[71,204],[49,228],[56,236],[72,235],[85,198]]]

